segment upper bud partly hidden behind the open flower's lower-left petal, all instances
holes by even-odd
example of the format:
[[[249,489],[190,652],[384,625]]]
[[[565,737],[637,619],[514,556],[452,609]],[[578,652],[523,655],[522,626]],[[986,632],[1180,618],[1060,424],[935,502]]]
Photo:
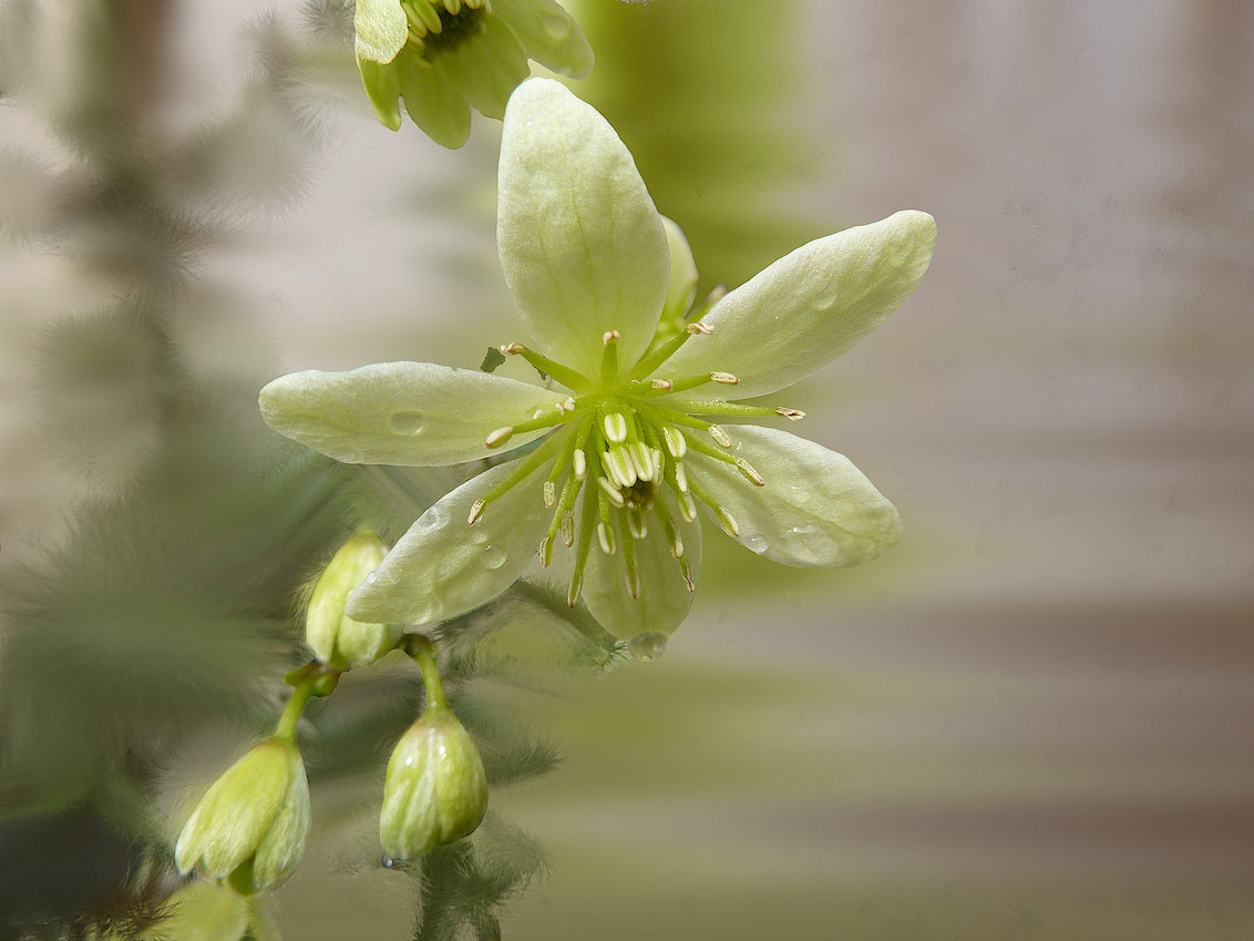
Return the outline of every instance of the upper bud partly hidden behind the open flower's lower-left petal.
[[[401,625],[362,624],[344,614],[349,595],[384,561],[387,550],[372,532],[349,540],[322,572],[305,620],[305,641],[324,664],[369,666],[396,646]]]

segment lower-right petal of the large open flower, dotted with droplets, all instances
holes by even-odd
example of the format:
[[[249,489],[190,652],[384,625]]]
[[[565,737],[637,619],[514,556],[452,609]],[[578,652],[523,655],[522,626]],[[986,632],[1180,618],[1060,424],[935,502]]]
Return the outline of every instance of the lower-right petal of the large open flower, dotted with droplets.
[[[843,454],[774,428],[729,427],[744,458],[765,478],[688,450],[696,478],[735,518],[736,541],[789,566],[854,566],[897,545],[902,518]]]

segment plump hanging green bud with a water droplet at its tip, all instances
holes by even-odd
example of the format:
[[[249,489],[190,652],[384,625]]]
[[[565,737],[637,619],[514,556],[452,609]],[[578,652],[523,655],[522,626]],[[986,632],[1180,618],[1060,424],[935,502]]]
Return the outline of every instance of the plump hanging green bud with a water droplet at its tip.
[[[488,775],[474,739],[453,711],[433,703],[387,762],[379,839],[395,859],[472,833],[488,811]]]

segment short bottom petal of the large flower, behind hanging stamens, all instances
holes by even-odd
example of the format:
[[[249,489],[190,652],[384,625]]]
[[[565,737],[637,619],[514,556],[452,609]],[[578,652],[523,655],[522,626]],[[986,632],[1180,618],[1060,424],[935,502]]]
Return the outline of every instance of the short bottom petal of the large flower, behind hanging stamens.
[[[701,523],[688,523],[680,516],[675,502],[667,499],[671,518],[680,527],[683,538],[683,558],[691,568],[696,583],[701,568]],[[593,541],[588,553],[588,567],[583,576],[583,602],[601,625],[619,640],[631,640],[645,632],[656,632],[670,637],[692,607],[692,592],[683,581],[678,560],[671,555],[671,543],[666,538],[661,521],[656,513],[648,519],[648,536],[635,540],[635,561],[640,572],[640,597],[633,598],[627,590],[627,571],[623,566],[623,547],[613,556],[604,555]],[[622,533],[622,538],[631,536]]]

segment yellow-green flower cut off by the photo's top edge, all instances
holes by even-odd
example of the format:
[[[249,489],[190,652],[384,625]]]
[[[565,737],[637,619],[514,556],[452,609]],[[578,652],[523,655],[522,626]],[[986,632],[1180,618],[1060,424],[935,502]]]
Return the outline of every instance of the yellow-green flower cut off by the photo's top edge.
[[[583,30],[553,0],[357,0],[357,68],[379,120],[400,128],[400,99],[444,147],[470,136],[470,108],[505,112],[534,59],[562,75],[592,72]]]

